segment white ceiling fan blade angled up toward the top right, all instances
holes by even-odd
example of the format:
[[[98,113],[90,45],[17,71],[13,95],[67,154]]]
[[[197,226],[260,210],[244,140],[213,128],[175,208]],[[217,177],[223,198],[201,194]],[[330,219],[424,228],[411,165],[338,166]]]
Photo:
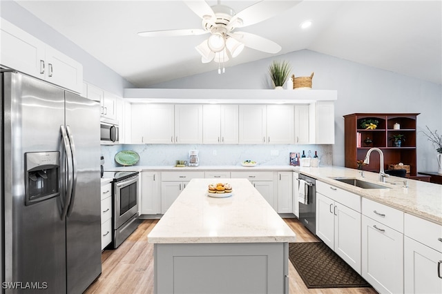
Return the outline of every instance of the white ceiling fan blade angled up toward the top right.
[[[235,14],[230,20],[229,27],[242,28],[260,21],[265,21],[276,16],[287,9],[290,9],[302,1],[272,1],[263,0]],[[241,21],[238,21],[241,19]]]

